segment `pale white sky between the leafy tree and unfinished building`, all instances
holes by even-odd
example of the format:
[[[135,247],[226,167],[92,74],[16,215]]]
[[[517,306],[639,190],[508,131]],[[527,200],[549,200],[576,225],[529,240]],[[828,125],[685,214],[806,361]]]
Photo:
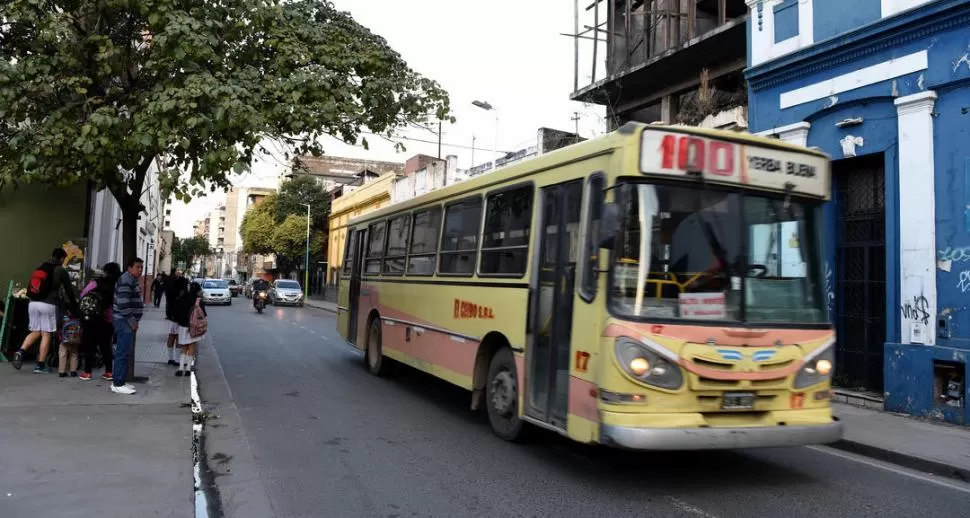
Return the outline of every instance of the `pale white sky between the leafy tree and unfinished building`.
[[[438,81],[450,95],[455,124],[442,127],[442,155],[457,155],[461,168],[489,161],[492,148],[516,151],[535,145],[536,131],[548,127],[602,134],[603,109],[569,100],[573,91],[573,40],[560,33],[573,31],[573,5],[563,0],[335,0],[338,9],[383,36],[418,73]],[[586,63],[588,65],[588,61]],[[588,81],[582,73],[580,87]],[[486,112],[472,101],[495,107]],[[496,122],[496,116],[498,118]],[[437,135],[408,130],[401,140],[407,148],[369,136],[370,149],[327,139],[333,156],[404,162],[411,156],[437,154]],[[496,138],[497,136],[497,138]],[[474,152],[472,139],[474,138]],[[253,165],[238,184],[262,183],[286,169],[283,148]],[[262,178],[262,180],[260,180]],[[189,236],[192,224],[223,198],[220,191],[185,206],[172,207],[172,228]]]

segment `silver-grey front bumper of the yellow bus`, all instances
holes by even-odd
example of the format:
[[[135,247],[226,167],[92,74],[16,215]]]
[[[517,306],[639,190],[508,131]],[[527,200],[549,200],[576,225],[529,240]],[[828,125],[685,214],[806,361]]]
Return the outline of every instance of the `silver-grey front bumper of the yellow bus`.
[[[745,428],[634,428],[604,424],[603,444],[631,450],[722,450],[827,444],[842,439],[842,423]]]

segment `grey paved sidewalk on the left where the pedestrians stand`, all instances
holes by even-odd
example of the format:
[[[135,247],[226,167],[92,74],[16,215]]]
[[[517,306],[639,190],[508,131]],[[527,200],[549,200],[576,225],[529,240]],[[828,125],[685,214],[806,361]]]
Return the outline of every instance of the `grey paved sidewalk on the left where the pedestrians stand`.
[[[193,516],[189,379],[165,364],[164,314],[146,308],[138,393],[0,364],[0,515]]]

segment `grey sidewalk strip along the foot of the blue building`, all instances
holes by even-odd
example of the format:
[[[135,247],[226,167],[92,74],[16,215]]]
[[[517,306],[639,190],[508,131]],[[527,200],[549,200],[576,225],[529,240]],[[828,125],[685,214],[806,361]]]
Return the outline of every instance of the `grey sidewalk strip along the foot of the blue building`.
[[[845,423],[834,448],[970,482],[970,429],[889,412],[832,404]]]

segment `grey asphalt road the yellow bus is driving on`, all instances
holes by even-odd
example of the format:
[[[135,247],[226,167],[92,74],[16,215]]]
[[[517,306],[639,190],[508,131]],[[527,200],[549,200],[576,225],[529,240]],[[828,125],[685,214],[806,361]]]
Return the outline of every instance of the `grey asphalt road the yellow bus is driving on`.
[[[508,444],[462,390],[370,375],[332,314],[236,300],[210,309],[209,332],[276,516],[970,516],[970,486],[828,448]]]

